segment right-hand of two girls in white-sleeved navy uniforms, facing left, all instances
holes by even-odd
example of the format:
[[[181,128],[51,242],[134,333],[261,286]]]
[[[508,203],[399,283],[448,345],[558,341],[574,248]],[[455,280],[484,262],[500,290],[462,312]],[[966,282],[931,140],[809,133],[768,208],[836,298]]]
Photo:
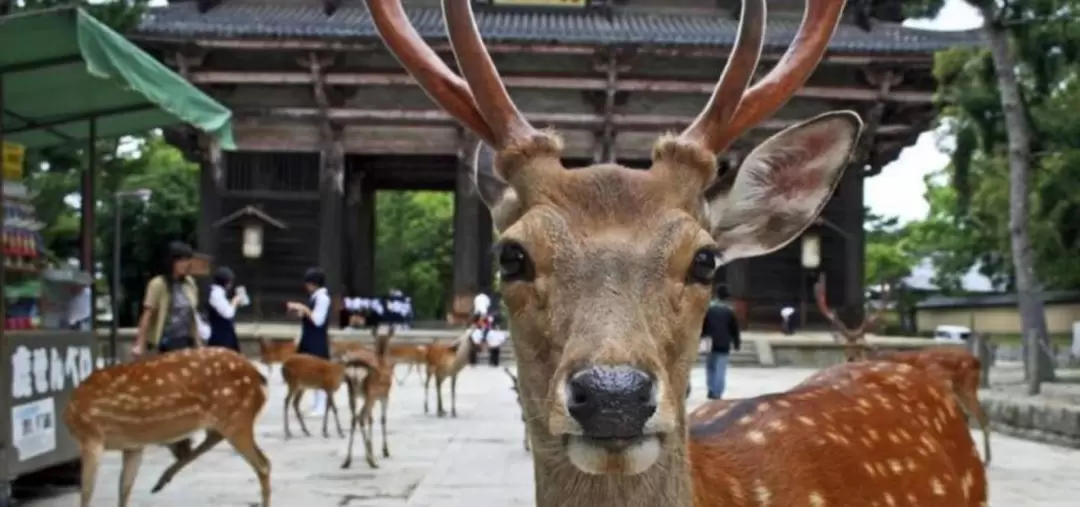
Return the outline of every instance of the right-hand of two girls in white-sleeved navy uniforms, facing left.
[[[300,343],[296,353],[308,353],[323,359],[330,358],[329,315],[330,294],[326,290],[326,273],[311,268],[303,273],[303,289],[308,291],[306,303],[292,302],[286,309],[300,317]],[[312,415],[326,412],[326,393],[315,391],[315,409]]]

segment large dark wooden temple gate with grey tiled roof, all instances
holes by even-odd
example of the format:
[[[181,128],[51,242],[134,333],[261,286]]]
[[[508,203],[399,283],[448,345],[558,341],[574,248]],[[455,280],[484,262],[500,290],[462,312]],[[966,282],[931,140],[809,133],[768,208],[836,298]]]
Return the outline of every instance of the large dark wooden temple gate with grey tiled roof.
[[[739,12],[739,0],[531,2],[475,0],[476,18],[515,103],[534,124],[564,133],[568,166],[616,157],[648,166],[657,135],[688,124],[712,92]],[[453,63],[438,0],[404,3]],[[727,268],[725,283],[751,324],[775,326],[781,306],[812,302],[810,280],[821,270],[841,315],[862,318],[863,178],[928,129],[933,52],[977,42],[973,32],[900,26],[899,0],[849,3],[807,85],[721,161],[738,164],[764,137],[827,110],[852,109],[866,122],[856,159],[812,228],[820,267],[804,268],[795,242]],[[802,6],[769,2],[760,71],[786,50]],[[244,205],[289,225],[288,235],[268,238],[260,261],[272,266],[267,315],[297,295],[310,265],[338,280],[336,291],[370,293],[377,189],[453,190],[451,292],[490,288],[490,216],[468,181],[476,142],[382,48],[362,1],[174,0],[151,10],[133,39],[237,115],[239,152],[221,157],[189,132],[168,136],[203,164],[200,250],[242,264],[240,235],[205,224]]]

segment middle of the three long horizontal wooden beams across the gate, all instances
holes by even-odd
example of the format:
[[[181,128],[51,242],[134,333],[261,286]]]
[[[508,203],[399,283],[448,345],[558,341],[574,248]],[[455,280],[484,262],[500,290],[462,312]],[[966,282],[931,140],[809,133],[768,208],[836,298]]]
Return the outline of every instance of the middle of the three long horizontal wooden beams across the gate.
[[[508,88],[536,90],[592,90],[606,91],[605,78],[568,78],[541,76],[504,76]],[[310,84],[308,72],[248,72],[234,70],[200,70],[191,74],[195,84]],[[325,76],[325,82],[334,86],[414,86],[416,81],[405,74],[360,74],[333,72]],[[661,79],[617,79],[618,92],[700,93],[711,94],[716,81],[696,82]],[[877,90],[854,86],[804,86],[795,96],[806,98],[828,98],[838,101],[879,101]],[[889,102],[932,104],[933,92],[890,91]]]

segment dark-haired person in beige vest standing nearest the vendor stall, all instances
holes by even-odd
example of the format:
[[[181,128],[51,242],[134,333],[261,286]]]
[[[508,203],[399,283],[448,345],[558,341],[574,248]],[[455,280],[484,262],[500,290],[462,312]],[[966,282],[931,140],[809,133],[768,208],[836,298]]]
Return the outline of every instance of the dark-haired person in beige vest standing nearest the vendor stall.
[[[140,357],[148,349],[165,353],[202,345],[195,316],[199,288],[189,276],[193,256],[187,243],[168,244],[164,269],[146,286],[132,356]]]

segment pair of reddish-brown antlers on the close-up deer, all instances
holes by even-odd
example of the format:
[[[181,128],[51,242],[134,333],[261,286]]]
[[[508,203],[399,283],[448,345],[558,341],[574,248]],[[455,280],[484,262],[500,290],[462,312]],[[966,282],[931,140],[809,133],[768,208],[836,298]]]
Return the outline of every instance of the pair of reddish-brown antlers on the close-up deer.
[[[514,106],[484,48],[469,0],[443,0],[450,48],[464,79],[443,63],[413,27],[401,0],[366,0],[375,27],[424,92],[485,143],[505,148],[537,130]],[[739,35],[713,96],[681,137],[720,152],[779,110],[809,79],[836,31],[843,2],[807,0],[792,45],[777,66],[746,90],[765,35],[765,0],[743,3]],[[744,93],[745,92],[745,93]]]

